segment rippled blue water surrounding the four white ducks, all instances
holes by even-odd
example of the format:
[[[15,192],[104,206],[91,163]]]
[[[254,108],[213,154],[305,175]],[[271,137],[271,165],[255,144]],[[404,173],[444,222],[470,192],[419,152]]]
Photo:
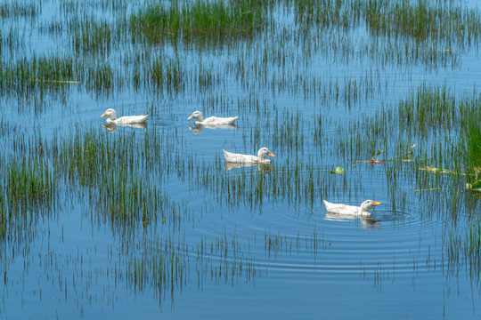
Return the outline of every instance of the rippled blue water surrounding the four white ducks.
[[[9,2],[15,3],[35,4]],[[100,4],[110,8],[110,21],[144,5],[120,1],[117,10]],[[33,56],[74,54],[73,31],[45,29],[91,15],[100,19],[100,4],[45,0],[34,18],[5,15],[3,69]],[[127,150],[135,163],[111,166],[122,172],[132,165],[129,173],[143,186],[137,195],[155,190],[169,205],[148,217],[148,208],[144,215],[132,213],[132,223],[116,220],[100,205],[108,200],[102,188],[117,186],[113,176],[90,185],[50,159],[59,189],[55,208],[9,216],[24,223],[2,238],[2,318],[481,316],[479,268],[462,255],[464,244],[458,255],[450,250],[452,239],[478,223],[479,196],[461,188],[465,206],[449,207],[456,182],[419,170],[437,164],[444,135],[410,134],[397,116],[379,116],[396,115],[400,101],[422,85],[477,97],[477,42],[454,47],[432,64],[382,60],[379,52],[363,50],[388,39],[364,27],[345,33],[311,26],[312,35],[298,40],[303,27],[294,21],[293,5],[275,2],[269,7],[273,25],[252,39],[145,47],[112,41],[107,59],[75,53],[86,66],[113,66],[110,90],[89,89],[87,79],[60,88],[33,86],[27,93],[20,84],[3,83],[2,161],[35,156],[39,136],[52,154],[55,146],[66,148],[69,139],[83,141],[87,134],[107,141],[101,146],[132,141]],[[292,29],[279,28],[283,24]],[[17,47],[8,45],[9,32],[20,36]],[[132,70],[151,68],[132,62],[142,55],[180,62],[184,88],[136,87]],[[205,74],[211,84],[200,84]],[[100,116],[107,108],[150,117],[145,127],[104,128]],[[239,119],[229,128],[200,128],[187,120],[194,110]],[[377,116],[390,122],[376,129],[370,122]],[[147,145],[155,139],[159,145]],[[22,141],[28,147],[20,155]],[[223,149],[253,155],[263,146],[275,155],[272,164],[224,164]],[[412,154],[399,156],[399,146]],[[378,149],[386,152],[376,158],[386,161],[365,163]],[[330,173],[338,166],[346,173]],[[383,203],[370,218],[332,214],[322,204],[358,205],[368,198]]]

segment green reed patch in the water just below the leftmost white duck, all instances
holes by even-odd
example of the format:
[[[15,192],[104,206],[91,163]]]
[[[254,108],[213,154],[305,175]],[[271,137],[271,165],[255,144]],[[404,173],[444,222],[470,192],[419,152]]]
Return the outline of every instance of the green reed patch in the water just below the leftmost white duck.
[[[154,228],[158,222],[172,230],[180,228],[187,205],[173,201],[159,181],[174,174],[186,179],[186,163],[192,159],[155,129],[143,139],[135,137],[135,132],[116,136],[93,129],[75,132],[49,146],[55,171],[62,172],[75,192],[87,195],[119,235],[134,236],[137,228]]]

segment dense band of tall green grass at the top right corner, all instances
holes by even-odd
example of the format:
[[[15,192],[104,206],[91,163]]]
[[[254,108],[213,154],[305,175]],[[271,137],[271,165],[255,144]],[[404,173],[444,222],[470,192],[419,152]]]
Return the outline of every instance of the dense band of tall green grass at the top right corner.
[[[404,37],[418,44],[441,42],[447,46],[444,49],[453,44],[461,47],[477,44],[481,27],[476,11],[463,9],[454,2],[286,0],[286,3],[294,4],[296,20],[304,26],[348,30],[365,23],[372,36]]]

